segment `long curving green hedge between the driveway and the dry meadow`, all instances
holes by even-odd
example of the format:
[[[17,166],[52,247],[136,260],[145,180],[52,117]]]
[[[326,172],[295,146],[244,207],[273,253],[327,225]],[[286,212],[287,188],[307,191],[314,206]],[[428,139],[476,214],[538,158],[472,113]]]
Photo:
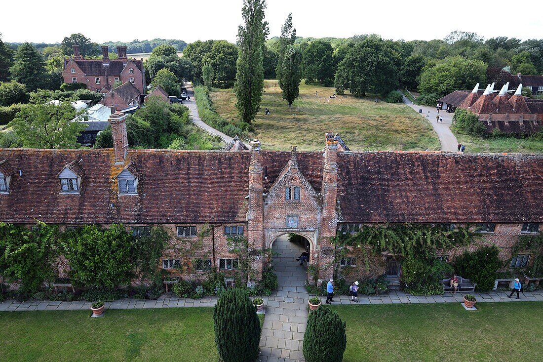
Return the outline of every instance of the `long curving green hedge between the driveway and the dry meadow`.
[[[243,138],[247,134],[248,123],[238,122],[233,124],[217,114],[211,105],[209,90],[205,86],[198,85],[194,87],[194,97],[198,105],[198,114],[206,124],[230,137],[238,136]]]

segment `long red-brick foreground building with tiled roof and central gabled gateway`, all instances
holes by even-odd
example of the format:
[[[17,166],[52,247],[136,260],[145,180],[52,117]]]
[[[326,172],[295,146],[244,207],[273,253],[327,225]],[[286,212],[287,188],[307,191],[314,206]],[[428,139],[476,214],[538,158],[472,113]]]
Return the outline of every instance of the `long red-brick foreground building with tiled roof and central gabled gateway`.
[[[324,279],[333,273],[330,239],[361,224],[475,223],[483,244],[508,260],[517,237],[543,223],[543,155],[351,152],[332,134],[321,152],[264,151],[257,140],[250,151],[243,143],[231,151],[129,149],[125,116],[110,123],[113,149],[0,149],[0,221],[123,223],[135,234],[160,224],[172,235],[165,269],[181,263],[179,240],[209,225],[196,269],[237,269],[227,238],[244,235],[252,280],[262,249],[290,233],[307,239]],[[393,273],[399,261],[391,256],[375,260],[374,274]]]

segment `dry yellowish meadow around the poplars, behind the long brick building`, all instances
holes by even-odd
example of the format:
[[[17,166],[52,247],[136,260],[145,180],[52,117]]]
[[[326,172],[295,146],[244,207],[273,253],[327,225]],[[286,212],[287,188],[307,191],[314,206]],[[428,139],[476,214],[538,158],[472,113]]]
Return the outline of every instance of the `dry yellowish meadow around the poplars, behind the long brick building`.
[[[251,136],[266,149],[287,150],[292,145],[301,151],[323,149],[326,132],[339,133],[353,151],[440,149],[430,123],[405,105],[382,100],[375,103],[375,97],[330,99],[333,92],[331,87],[302,82],[299,99],[288,109],[277,81],[265,80],[261,110]],[[211,99],[217,113],[228,119],[237,117],[231,89],[214,89]],[[271,110],[269,116],[264,116],[266,107]]]

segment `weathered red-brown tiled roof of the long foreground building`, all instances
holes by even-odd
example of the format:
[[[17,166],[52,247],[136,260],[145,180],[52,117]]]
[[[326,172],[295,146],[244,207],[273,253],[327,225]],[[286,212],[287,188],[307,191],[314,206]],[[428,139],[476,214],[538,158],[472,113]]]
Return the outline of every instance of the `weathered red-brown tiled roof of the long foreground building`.
[[[130,150],[124,165],[113,159],[112,149],[0,149],[15,171],[9,194],[0,195],[0,220],[247,220],[249,151]],[[261,151],[264,193],[290,159],[291,152]],[[323,152],[298,152],[296,159],[321,192]],[[84,173],[80,194],[61,195],[56,175],[67,165]],[[138,178],[137,195],[118,195],[123,170]],[[338,153],[338,210],[346,222],[543,222],[542,188],[543,155]]]

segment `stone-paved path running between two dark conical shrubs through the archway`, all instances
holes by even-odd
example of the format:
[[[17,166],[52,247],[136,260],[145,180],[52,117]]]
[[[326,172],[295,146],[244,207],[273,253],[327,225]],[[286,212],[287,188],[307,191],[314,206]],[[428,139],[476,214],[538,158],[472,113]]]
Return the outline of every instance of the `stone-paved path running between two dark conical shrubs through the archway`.
[[[294,260],[304,251],[302,246],[280,236],[272,248],[279,288],[268,298],[266,318],[260,340],[261,362],[304,361],[302,347],[307,324],[309,294],[304,282],[307,270]]]

